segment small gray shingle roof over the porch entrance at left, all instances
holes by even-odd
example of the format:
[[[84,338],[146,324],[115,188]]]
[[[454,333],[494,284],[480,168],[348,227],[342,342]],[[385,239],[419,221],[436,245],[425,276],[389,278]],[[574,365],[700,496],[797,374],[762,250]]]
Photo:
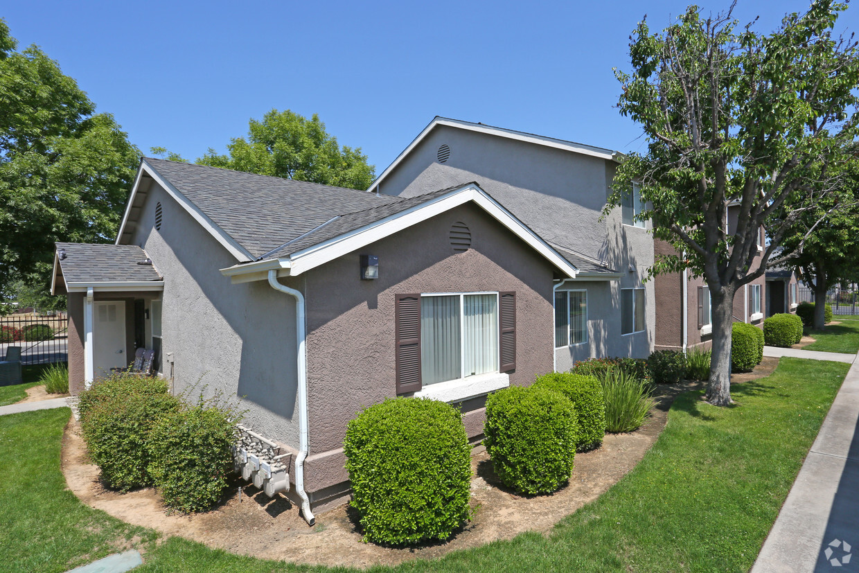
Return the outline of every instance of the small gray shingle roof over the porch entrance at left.
[[[152,265],[137,265],[149,255],[137,245],[57,243],[66,283],[160,281]]]

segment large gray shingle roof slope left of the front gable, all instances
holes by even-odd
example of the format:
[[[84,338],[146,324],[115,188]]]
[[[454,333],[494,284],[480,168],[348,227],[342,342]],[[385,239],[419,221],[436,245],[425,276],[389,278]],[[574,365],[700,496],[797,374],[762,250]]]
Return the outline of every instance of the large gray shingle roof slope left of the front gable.
[[[400,200],[192,163],[145,161],[256,258],[332,217]]]

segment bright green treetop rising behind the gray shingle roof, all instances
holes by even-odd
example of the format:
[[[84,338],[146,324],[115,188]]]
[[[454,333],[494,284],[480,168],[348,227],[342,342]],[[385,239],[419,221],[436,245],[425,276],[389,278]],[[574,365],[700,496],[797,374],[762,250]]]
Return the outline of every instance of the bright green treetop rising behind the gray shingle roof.
[[[367,164],[361,148],[340,148],[315,113],[307,119],[289,110],[272,109],[262,121],[251,119],[247,139],[234,137],[227,149],[228,155],[209,149],[197,162],[361,190],[375,178],[375,168]]]

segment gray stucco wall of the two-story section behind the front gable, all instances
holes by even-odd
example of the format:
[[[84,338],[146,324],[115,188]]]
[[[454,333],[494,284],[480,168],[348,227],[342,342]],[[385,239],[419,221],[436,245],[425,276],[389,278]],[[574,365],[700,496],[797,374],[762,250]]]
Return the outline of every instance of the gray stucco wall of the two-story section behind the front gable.
[[[443,164],[437,159],[442,143],[450,147]],[[620,209],[600,220],[613,174],[614,164],[597,157],[438,126],[378,191],[414,196],[475,181],[546,241],[606,260],[623,277],[612,283],[612,296],[600,294],[594,286],[594,302],[599,299],[601,304],[589,304],[588,309],[591,326],[606,330],[594,332],[594,343],[586,349],[559,351],[558,359],[565,363],[579,356],[647,357],[655,338],[655,290],[653,282],[643,283],[643,278],[654,262],[653,239],[648,229],[622,224]],[[618,289],[642,284],[647,330],[622,337]]]

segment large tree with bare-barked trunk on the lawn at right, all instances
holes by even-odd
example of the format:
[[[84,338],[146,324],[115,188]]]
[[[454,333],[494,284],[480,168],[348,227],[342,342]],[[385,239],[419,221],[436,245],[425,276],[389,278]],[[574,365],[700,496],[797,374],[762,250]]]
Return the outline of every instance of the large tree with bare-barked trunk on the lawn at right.
[[[648,149],[618,168],[606,212],[640,185],[648,202],[640,218],[652,218],[677,251],[652,271],[689,269],[710,287],[711,404],[732,402],[734,295],[779,262],[770,259],[786,230],[837,188],[833,174],[856,136],[856,43],[832,36],[845,8],[815,1],[758,34],[753,23],[738,28],[730,10],[704,17],[690,6],[661,33],[640,22],[634,70],[615,72],[620,112],[642,126]],[[730,233],[728,205],[738,213]],[[761,227],[770,243],[758,259]]]

